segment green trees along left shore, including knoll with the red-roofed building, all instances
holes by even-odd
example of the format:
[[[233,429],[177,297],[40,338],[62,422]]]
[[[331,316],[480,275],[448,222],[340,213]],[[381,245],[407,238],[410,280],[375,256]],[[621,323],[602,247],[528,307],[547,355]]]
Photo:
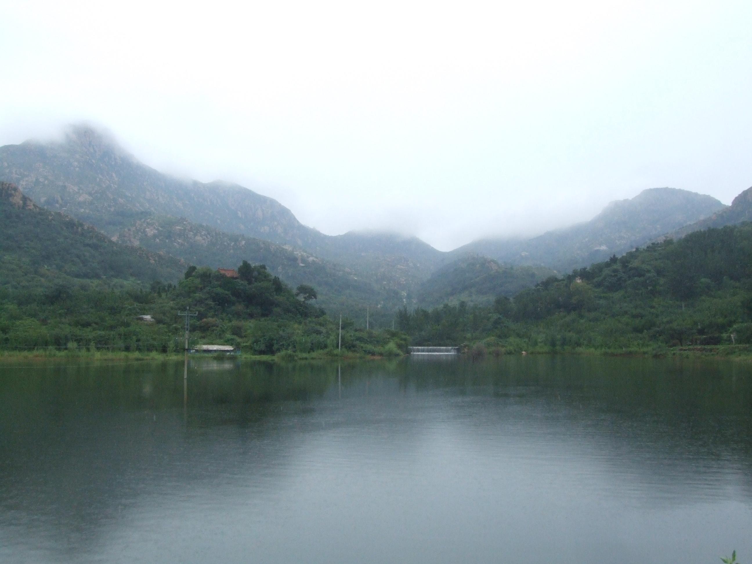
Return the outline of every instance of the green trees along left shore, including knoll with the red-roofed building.
[[[255,354],[314,353],[338,347],[338,326],[312,305],[315,290],[299,297],[263,265],[244,262],[238,278],[190,267],[177,284],[145,289],[123,281],[67,280],[67,284],[0,287],[0,347],[174,352],[183,348],[183,318],[198,311],[191,345],[232,344]],[[139,320],[139,316],[151,320]],[[345,351],[384,354],[405,350],[399,332],[356,329],[344,320]]]

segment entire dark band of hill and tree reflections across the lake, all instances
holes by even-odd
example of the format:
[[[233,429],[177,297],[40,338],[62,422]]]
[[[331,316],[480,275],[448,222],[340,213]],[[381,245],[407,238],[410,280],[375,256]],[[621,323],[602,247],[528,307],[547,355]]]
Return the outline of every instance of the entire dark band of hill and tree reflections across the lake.
[[[514,421],[531,448],[544,437],[598,454],[605,472],[650,484],[651,504],[675,505],[686,484],[703,479],[731,481],[752,499],[752,374],[735,363],[564,356],[342,362],[347,410],[332,415],[336,363],[202,370],[199,362],[189,372],[186,420],[181,363],[6,374],[0,508],[33,527],[49,523],[58,550],[96,544],[139,499],[174,484],[197,492],[217,476],[242,477],[239,484],[284,480],[280,468],[305,440],[301,432],[324,423],[365,425],[394,405],[417,405],[405,398],[483,418],[489,429]],[[439,397],[429,402],[430,395]],[[364,412],[371,420],[357,420]],[[477,439],[472,426],[456,429]],[[395,442],[396,449],[413,444]]]

